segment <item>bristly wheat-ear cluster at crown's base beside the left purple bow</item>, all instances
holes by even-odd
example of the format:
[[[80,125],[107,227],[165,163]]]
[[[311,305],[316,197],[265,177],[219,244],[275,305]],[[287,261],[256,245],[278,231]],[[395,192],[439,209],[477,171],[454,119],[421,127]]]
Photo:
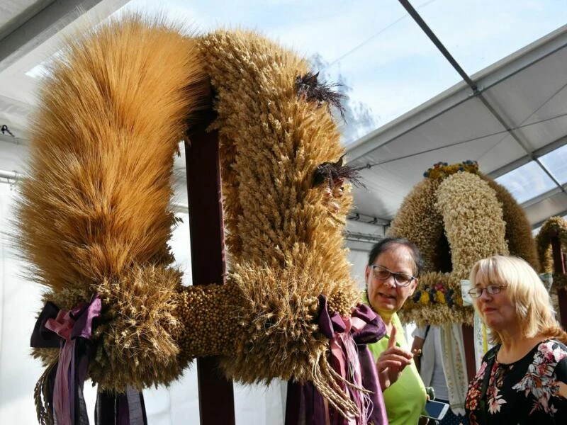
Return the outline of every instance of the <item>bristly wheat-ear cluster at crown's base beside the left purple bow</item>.
[[[145,266],[96,288],[103,311],[90,373],[101,389],[141,389],[179,376],[186,366],[176,341],[183,329],[176,315],[180,282],[175,268]]]

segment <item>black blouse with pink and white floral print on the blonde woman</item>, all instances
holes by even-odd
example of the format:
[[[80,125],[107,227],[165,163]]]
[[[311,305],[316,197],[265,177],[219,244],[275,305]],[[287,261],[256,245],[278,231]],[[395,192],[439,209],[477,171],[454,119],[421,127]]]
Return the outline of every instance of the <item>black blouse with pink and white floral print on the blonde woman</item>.
[[[465,408],[470,424],[567,424],[567,399],[559,394],[560,382],[567,384],[567,346],[554,340],[541,341],[514,363],[494,360],[485,395],[486,422],[482,422],[484,374],[488,358],[496,358],[499,348],[485,354],[468,385]]]

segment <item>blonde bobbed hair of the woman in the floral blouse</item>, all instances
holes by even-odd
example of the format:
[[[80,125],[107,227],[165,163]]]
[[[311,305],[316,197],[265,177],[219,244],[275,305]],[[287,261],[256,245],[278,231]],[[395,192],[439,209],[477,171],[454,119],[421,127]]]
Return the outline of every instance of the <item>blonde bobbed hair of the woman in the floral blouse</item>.
[[[514,256],[490,256],[473,265],[469,280],[471,288],[479,282],[506,285],[507,296],[516,307],[524,337],[567,340],[567,334],[555,319],[544,283],[527,261]],[[476,302],[473,305],[477,309]],[[501,342],[498,331],[492,330],[490,339],[494,344]]]

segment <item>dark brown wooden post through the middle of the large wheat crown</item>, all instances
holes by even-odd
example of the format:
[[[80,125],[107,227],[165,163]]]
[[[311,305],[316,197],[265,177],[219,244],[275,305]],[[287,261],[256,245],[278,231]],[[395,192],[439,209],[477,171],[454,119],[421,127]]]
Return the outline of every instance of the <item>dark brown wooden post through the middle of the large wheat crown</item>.
[[[208,111],[185,145],[193,285],[224,283],[226,271],[218,132],[205,131],[213,118]],[[234,425],[232,382],[221,375],[217,359],[198,358],[197,375],[201,425]]]

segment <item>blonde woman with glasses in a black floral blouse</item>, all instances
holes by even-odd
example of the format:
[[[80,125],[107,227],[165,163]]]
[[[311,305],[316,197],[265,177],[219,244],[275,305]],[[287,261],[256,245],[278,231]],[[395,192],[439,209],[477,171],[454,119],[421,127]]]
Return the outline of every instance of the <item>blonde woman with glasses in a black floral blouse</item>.
[[[492,256],[470,280],[496,344],[468,386],[470,424],[567,424],[567,334],[537,273],[522,259]]]

